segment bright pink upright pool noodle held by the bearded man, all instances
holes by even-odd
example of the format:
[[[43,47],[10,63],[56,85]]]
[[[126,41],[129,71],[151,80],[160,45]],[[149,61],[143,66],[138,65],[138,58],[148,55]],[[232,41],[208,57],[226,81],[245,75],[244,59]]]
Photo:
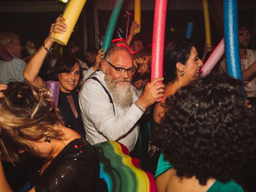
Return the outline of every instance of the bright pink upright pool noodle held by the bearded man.
[[[167,0],[156,0],[152,41],[151,81],[163,76],[166,8]],[[158,99],[157,101],[161,100]]]

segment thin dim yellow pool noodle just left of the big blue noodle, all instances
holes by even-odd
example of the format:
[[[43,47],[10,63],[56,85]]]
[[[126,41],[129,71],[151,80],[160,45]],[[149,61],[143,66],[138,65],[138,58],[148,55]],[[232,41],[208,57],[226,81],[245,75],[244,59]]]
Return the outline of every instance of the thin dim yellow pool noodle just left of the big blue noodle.
[[[212,42],[211,42],[211,29],[210,29],[208,1],[202,0],[202,4],[203,4],[203,11],[204,11],[205,39],[206,39],[206,44],[208,44],[208,46],[210,47],[208,51],[210,51],[212,47]]]

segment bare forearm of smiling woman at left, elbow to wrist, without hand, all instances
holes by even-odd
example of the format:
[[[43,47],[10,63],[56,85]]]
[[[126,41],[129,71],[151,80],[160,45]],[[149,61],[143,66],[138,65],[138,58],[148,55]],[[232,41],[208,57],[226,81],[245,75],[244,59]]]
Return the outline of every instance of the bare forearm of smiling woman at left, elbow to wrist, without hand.
[[[46,48],[50,49],[53,43],[46,39],[44,41],[44,45],[46,46]],[[36,54],[34,54],[34,56],[28,62],[23,72],[23,76],[28,83],[35,86],[42,86],[42,81],[40,80],[40,78],[38,78],[38,73],[40,68],[42,67],[44,58],[46,57],[47,53],[48,52],[44,49],[44,47],[41,46]]]

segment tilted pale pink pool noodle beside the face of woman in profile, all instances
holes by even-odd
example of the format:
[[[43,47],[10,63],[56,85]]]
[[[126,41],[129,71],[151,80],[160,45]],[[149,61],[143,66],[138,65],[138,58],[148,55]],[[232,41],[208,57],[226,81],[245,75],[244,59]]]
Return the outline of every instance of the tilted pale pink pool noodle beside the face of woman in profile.
[[[202,69],[200,70],[200,74],[202,76],[208,75],[211,70],[214,68],[214,66],[217,64],[217,62],[220,60],[222,55],[225,52],[225,43],[224,43],[224,38],[220,41],[218,46],[214,49]]]

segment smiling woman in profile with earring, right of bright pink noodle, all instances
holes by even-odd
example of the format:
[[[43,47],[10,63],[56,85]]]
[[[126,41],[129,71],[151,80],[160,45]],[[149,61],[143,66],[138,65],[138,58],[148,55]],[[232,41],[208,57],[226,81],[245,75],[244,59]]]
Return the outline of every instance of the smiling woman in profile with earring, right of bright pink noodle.
[[[174,94],[180,87],[186,86],[198,78],[202,66],[203,63],[191,40],[176,39],[168,45],[164,53],[164,97],[161,102],[155,104],[148,116],[140,120],[139,151],[144,170],[152,174],[156,170],[162,144],[155,140],[158,132],[154,130],[154,127],[155,122],[159,123],[164,114],[165,99]]]

